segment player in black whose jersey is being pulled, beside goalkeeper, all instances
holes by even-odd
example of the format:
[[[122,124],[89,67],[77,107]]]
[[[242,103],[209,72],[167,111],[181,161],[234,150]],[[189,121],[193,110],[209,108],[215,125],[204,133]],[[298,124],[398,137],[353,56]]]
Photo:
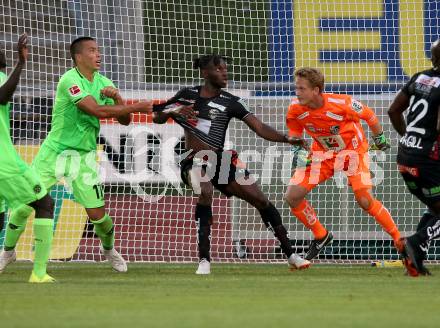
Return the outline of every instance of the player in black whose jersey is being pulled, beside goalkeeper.
[[[226,130],[232,118],[246,123],[257,135],[274,142],[303,144],[302,139],[279,133],[254,116],[247,104],[222,89],[228,82],[226,58],[205,55],[194,60],[205,81],[202,86],[184,88],[167,102],[153,108],[155,123],[170,117],[185,131],[190,155],[180,163],[183,181],[199,194],[195,217],[198,223],[199,267],[197,274],[210,273],[212,193],[215,187],[226,196],[236,196],[258,209],[266,227],[273,231],[293,269],[305,269],[310,262],[294,253],[278,210],[251,181],[235,151],[224,151]],[[244,182],[244,183],[241,183]]]

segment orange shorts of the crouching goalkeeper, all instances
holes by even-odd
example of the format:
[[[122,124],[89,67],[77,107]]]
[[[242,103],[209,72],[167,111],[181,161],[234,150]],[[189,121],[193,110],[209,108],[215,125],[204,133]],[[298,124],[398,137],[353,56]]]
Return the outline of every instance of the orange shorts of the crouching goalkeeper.
[[[318,184],[331,178],[335,172],[343,172],[348,179],[348,185],[353,190],[371,189],[371,173],[367,152],[339,152],[331,158],[322,161],[315,160],[312,154],[312,164],[295,170],[290,179],[290,185],[299,185],[312,190]]]

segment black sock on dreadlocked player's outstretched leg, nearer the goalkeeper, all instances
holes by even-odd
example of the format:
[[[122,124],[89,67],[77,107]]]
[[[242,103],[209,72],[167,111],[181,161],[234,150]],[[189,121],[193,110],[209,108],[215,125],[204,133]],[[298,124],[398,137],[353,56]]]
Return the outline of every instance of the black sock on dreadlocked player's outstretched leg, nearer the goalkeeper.
[[[280,242],[283,253],[289,258],[293,254],[293,249],[287,236],[287,230],[281,221],[280,212],[270,203],[268,207],[260,210],[260,215],[266,227],[274,233]]]

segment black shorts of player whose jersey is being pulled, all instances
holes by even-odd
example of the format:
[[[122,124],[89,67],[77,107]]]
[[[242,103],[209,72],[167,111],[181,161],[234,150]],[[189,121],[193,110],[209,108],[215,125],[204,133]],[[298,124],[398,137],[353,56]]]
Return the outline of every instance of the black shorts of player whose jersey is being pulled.
[[[247,179],[250,176],[246,166],[238,159],[235,150],[216,151],[216,160],[213,161],[209,156],[199,158],[196,153],[190,154],[180,162],[180,176],[182,181],[189,187],[189,172],[194,166],[199,166],[203,174],[210,176],[212,185],[227,197],[232,194],[226,191],[226,187],[233,181]],[[224,163],[222,165],[222,159]]]

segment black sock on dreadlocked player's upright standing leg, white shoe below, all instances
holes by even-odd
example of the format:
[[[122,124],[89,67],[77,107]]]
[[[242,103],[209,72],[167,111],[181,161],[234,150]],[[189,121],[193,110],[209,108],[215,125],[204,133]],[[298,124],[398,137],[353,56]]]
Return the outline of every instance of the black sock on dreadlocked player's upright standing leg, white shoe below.
[[[199,246],[199,259],[211,261],[211,206],[196,205],[197,237]]]

